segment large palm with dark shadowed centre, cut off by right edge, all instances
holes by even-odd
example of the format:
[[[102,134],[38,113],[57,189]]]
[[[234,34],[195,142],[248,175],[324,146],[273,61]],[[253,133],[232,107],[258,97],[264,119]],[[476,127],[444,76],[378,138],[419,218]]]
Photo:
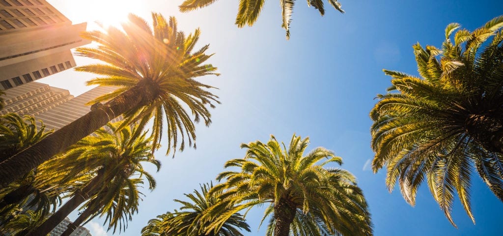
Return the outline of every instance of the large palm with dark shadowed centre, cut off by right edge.
[[[454,34],[460,25],[452,23],[441,49],[414,45],[420,77],[384,70],[392,77],[390,93],[378,95],[370,112],[374,172],[386,166],[389,191],[398,180],[411,205],[426,177],[453,225],[455,192],[475,222],[470,208],[473,169],[503,201],[501,27],[503,16],[473,32]]]

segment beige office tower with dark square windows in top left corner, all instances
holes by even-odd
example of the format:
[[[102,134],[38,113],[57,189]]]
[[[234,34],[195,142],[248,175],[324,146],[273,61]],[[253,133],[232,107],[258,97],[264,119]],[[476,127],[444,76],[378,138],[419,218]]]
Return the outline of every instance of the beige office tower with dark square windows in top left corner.
[[[0,0],[0,90],[75,66],[70,49],[87,23],[72,25],[45,0]]]

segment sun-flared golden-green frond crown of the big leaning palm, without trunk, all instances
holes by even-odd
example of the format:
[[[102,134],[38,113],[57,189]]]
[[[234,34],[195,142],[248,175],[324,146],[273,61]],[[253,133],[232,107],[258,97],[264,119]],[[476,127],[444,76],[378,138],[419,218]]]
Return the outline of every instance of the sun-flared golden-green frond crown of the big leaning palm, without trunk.
[[[219,103],[217,96],[207,89],[213,88],[195,80],[196,77],[216,74],[211,64],[204,64],[212,54],[205,54],[209,45],[196,49],[200,31],[185,35],[178,31],[177,21],[170,17],[166,21],[160,14],[152,13],[152,27],[138,16],[129,15],[129,23],[119,30],[114,27],[106,31],[91,31],[83,37],[94,42],[97,48],[78,48],[77,55],[99,59],[104,63],[78,66],[77,71],[99,74],[100,77],[88,81],[88,85],[114,86],[116,91],[100,96],[89,104],[113,99],[124,91],[143,85],[150,93],[151,101],[125,114],[126,122],[139,121],[144,126],[153,117],[153,146],[160,142],[163,121],[166,120],[168,149],[177,147],[179,133],[181,146],[185,147],[185,137],[190,146],[196,146],[195,125],[186,107],[194,115],[194,121],[211,123],[207,105]],[[153,150],[152,150],[153,151]]]

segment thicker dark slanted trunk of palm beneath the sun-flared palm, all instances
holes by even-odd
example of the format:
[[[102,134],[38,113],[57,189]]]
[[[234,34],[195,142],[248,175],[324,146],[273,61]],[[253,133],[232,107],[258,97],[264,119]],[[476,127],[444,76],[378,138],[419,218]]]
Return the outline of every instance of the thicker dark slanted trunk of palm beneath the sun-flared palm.
[[[77,191],[75,195],[68,200],[61,208],[59,208],[54,214],[52,214],[47,220],[45,220],[40,226],[32,229],[27,236],[45,236],[52,229],[54,229],[61,221],[64,220],[73,210],[75,210],[80,204],[85,202],[91,195],[93,195],[100,187],[104,172],[99,173],[95,176],[86,187],[82,190]]]

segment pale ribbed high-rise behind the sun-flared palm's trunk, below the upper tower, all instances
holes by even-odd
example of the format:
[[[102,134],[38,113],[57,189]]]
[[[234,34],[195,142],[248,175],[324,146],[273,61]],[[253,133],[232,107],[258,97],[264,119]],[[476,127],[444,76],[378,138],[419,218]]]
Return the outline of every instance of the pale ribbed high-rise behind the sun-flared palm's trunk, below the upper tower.
[[[91,111],[91,106],[86,103],[115,89],[96,87],[73,98],[68,90],[32,82],[5,91],[4,109],[0,115],[11,112],[32,115],[36,120],[42,120],[47,129],[59,129]]]

